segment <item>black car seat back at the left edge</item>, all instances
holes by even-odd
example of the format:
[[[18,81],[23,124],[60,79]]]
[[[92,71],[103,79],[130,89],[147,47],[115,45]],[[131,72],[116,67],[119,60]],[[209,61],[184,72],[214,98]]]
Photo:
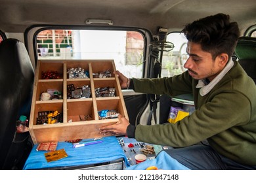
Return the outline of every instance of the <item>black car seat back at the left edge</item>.
[[[20,115],[30,116],[34,69],[25,45],[17,39],[0,43],[0,169],[13,169],[24,154],[26,139],[18,144],[16,120]]]

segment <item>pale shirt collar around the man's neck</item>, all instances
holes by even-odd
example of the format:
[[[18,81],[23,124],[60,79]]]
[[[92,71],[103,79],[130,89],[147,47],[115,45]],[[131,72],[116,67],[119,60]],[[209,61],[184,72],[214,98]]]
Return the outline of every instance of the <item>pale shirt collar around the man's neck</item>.
[[[207,85],[205,85],[205,82],[204,82],[205,79],[198,80],[198,84],[196,85],[196,88],[201,88],[200,95],[204,96],[207,93],[209,93],[211,91],[211,89],[213,89],[213,87],[224,77],[224,75],[226,75],[226,73],[228,73],[228,71],[233,67],[233,65],[234,65],[234,61],[232,61],[232,59],[230,59],[230,61],[228,61],[228,63],[226,64],[226,67],[224,67],[223,71],[221,71],[221,73],[219,73],[219,75],[217,75]]]

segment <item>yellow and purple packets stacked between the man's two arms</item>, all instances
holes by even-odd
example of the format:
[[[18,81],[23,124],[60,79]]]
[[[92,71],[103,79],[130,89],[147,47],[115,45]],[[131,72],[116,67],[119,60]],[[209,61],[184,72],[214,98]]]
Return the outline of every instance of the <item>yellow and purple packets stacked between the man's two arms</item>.
[[[181,107],[172,107],[169,112],[168,122],[175,124],[179,120],[182,120],[184,117],[188,116],[189,112],[184,111]]]

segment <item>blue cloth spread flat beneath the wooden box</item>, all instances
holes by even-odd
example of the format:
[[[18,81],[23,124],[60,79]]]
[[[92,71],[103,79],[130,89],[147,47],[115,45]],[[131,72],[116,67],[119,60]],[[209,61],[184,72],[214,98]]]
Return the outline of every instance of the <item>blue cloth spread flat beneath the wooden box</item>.
[[[32,152],[28,157],[23,169],[45,169],[51,167],[70,167],[76,165],[91,165],[104,163],[123,158],[125,165],[129,167],[127,158],[116,137],[104,137],[103,142],[91,144],[79,148],[72,148],[70,142],[58,142],[56,150],[64,148],[68,157],[47,163],[45,158],[46,151],[37,151],[37,144],[33,146]]]

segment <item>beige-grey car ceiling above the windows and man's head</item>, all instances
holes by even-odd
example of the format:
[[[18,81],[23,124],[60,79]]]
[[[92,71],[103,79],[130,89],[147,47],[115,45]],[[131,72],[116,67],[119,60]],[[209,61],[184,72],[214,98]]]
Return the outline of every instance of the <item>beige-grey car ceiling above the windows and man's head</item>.
[[[223,12],[242,32],[256,24],[255,0],[0,0],[0,30],[20,33],[35,24],[85,25],[108,19],[114,26],[180,31],[198,18]]]

